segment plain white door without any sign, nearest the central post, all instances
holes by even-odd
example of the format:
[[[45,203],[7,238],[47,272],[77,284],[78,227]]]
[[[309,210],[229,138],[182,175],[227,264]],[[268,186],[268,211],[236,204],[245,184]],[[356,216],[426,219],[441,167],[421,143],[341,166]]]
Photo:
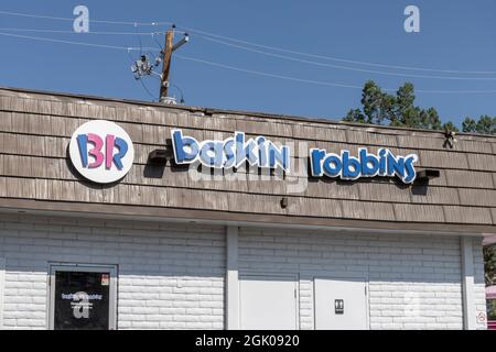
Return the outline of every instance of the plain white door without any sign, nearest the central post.
[[[239,286],[241,329],[298,329],[294,279],[245,277]]]

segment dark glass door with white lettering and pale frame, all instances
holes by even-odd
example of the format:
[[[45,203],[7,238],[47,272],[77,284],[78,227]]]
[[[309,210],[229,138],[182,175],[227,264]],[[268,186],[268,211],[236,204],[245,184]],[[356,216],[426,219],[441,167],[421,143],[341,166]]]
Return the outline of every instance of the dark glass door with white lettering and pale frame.
[[[108,330],[116,328],[116,267],[52,265],[50,328]]]

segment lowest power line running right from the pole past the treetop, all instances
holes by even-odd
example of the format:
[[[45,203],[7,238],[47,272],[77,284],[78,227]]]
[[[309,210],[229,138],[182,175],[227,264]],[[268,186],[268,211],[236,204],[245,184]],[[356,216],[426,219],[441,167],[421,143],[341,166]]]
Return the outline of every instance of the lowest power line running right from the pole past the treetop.
[[[175,55],[177,58],[196,62],[209,66],[215,66],[219,68],[226,68],[231,70],[237,70],[241,73],[258,75],[258,76],[265,76],[265,77],[272,77],[272,78],[279,78],[279,79],[285,79],[285,80],[292,80],[292,81],[299,81],[299,82],[306,82],[312,85],[319,85],[319,86],[330,86],[330,87],[341,87],[341,88],[353,88],[353,89],[363,89],[362,86],[354,86],[354,85],[345,85],[345,84],[336,84],[331,81],[323,81],[323,80],[312,80],[312,79],[305,79],[305,78],[298,78],[298,77],[291,77],[291,76],[284,76],[279,74],[272,74],[272,73],[265,73],[254,69],[247,69],[219,63],[214,63],[206,59],[201,59],[196,57],[190,57],[190,56],[183,56],[183,55]],[[397,89],[391,88],[381,88],[385,91],[397,91]],[[422,94],[496,94],[496,89],[494,90],[427,90],[427,89],[416,89],[417,92]]]

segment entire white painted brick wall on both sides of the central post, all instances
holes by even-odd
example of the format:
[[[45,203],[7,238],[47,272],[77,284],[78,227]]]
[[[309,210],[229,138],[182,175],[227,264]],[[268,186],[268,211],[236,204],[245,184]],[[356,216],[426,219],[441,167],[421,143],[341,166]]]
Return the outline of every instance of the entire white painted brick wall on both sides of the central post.
[[[473,241],[477,315],[484,267]],[[51,263],[117,265],[119,329],[225,328],[224,227],[0,215],[2,257],[3,329],[47,327]],[[315,277],[365,277],[370,329],[462,329],[461,265],[460,237],[239,231],[240,278],[299,277],[301,329],[314,328]]]

